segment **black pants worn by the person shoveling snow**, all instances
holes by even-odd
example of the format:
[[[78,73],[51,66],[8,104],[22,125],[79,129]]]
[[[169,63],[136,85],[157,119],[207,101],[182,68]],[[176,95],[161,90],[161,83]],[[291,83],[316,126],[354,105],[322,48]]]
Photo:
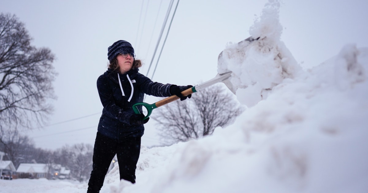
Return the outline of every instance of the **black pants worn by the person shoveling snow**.
[[[135,183],[135,169],[140,150],[141,137],[130,137],[118,142],[97,132],[87,193],[100,191],[115,154],[119,164],[120,179]]]

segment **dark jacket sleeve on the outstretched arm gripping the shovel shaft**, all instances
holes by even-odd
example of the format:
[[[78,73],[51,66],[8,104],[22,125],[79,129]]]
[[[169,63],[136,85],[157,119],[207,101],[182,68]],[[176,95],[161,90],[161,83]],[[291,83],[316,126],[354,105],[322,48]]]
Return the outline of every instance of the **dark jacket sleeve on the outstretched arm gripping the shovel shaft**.
[[[171,96],[170,93],[170,86],[172,84],[162,84],[159,82],[153,82],[148,77],[140,74],[139,75],[139,87],[141,88],[142,92],[156,96],[156,97],[169,97]]]

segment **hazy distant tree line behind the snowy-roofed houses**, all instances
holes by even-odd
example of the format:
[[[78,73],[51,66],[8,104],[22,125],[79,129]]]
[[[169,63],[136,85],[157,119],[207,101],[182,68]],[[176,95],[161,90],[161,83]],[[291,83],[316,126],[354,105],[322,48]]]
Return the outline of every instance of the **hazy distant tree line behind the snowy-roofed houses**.
[[[6,153],[4,160],[13,162],[15,168],[21,163],[60,164],[71,171],[72,179],[85,181],[92,170],[93,147],[90,144],[65,145],[57,150],[36,148],[28,136],[14,133],[0,142],[0,151]]]

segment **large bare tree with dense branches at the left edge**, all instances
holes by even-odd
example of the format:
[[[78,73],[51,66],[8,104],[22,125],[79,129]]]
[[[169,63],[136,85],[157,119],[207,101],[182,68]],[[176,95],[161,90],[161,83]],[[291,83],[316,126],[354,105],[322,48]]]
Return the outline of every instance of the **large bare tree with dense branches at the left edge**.
[[[40,126],[52,112],[54,55],[31,40],[15,15],[0,14],[0,140],[4,131]]]

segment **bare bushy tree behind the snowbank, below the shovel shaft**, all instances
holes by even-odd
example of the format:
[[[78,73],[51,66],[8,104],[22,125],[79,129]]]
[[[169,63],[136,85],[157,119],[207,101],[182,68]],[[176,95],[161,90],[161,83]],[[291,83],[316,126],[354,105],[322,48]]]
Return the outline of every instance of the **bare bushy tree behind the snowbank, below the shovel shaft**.
[[[211,135],[216,127],[227,126],[243,112],[229,92],[214,85],[158,108],[152,118],[158,122],[164,143],[173,144]]]

